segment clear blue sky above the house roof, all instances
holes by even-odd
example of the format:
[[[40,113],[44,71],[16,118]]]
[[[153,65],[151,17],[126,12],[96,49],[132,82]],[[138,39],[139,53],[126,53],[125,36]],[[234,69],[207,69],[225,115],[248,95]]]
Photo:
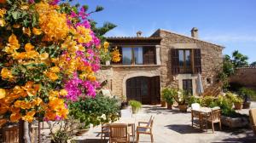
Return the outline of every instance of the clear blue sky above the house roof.
[[[192,27],[199,37],[224,45],[224,54],[238,49],[256,61],[255,0],[74,0],[105,9],[90,18],[99,26],[104,21],[117,25],[107,36],[150,36],[157,29],[166,29],[190,36]]]

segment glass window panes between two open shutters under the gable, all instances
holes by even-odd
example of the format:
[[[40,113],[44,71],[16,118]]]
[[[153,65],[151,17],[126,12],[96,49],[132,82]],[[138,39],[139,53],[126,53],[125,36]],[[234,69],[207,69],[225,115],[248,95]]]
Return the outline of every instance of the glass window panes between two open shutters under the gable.
[[[178,61],[179,69],[182,73],[190,73],[191,69],[191,51],[189,49],[179,49],[178,50]]]

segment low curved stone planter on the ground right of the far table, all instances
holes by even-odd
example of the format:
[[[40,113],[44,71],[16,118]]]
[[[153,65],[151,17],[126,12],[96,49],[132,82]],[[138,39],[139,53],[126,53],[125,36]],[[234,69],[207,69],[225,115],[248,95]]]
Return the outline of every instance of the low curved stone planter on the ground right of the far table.
[[[249,124],[247,117],[220,117],[221,123],[230,128],[246,127]]]

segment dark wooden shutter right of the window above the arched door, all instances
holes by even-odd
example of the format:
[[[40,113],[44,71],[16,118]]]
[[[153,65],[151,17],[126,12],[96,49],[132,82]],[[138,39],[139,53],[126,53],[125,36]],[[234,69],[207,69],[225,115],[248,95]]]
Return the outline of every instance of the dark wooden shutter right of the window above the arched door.
[[[155,64],[155,48],[143,47],[143,64],[154,65]]]

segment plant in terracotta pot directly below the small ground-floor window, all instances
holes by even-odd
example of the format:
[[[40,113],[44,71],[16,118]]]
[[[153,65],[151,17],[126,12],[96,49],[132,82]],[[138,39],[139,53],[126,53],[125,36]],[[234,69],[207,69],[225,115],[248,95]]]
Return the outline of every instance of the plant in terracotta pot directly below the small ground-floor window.
[[[174,96],[174,100],[177,101],[178,109],[180,112],[187,112],[188,110],[188,104],[187,104],[187,98],[189,93],[183,90],[180,90],[177,92],[177,94]]]

